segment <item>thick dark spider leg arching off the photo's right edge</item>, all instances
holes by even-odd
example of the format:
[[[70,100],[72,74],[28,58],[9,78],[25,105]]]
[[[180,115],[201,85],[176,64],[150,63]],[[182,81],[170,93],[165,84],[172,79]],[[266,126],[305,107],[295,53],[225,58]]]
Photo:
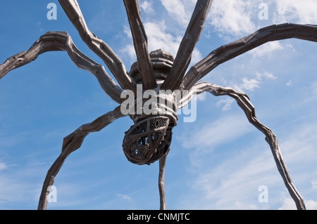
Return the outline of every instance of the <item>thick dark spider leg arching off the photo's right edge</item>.
[[[190,68],[182,81],[182,86],[184,89],[190,89],[199,79],[223,62],[235,58],[238,55],[242,55],[242,53],[250,51],[269,41],[290,38],[317,42],[317,25],[299,25],[292,23],[271,25],[259,29],[254,32],[254,34],[250,34],[247,37],[220,46],[209,53],[206,58],[197,62],[196,65]]]

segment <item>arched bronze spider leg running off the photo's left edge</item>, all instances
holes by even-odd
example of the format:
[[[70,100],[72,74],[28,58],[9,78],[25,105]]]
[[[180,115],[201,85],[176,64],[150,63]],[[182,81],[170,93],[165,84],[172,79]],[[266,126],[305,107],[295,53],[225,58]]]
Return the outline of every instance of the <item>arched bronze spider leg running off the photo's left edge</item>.
[[[0,79],[11,70],[37,59],[38,55],[46,51],[67,51],[70,59],[73,60],[77,67],[94,74],[107,95],[117,103],[123,102],[123,99],[120,98],[120,94],[123,91],[122,88],[111,79],[102,65],[94,62],[94,60],[78,50],[67,32],[46,32],[46,34],[37,39],[28,51],[23,51],[8,58],[4,64],[0,65]]]

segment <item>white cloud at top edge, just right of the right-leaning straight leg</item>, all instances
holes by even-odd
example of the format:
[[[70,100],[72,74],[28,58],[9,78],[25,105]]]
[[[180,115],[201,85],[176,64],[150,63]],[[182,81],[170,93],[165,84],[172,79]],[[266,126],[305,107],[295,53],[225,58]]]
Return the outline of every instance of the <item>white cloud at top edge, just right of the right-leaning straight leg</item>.
[[[256,25],[251,20],[256,7],[256,1],[249,0],[213,1],[209,20],[217,31],[224,34],[249,34],[256,30]]]

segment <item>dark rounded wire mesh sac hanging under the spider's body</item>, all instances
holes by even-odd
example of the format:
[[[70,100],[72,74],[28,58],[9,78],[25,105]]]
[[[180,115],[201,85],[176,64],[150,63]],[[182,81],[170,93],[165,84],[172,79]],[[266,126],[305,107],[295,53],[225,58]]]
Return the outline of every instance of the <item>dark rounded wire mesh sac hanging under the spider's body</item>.
[[[123,152],[134,164],[151,164],[168,152],[171,141],[170,118],[154,116],[137,122],[125,133]]]

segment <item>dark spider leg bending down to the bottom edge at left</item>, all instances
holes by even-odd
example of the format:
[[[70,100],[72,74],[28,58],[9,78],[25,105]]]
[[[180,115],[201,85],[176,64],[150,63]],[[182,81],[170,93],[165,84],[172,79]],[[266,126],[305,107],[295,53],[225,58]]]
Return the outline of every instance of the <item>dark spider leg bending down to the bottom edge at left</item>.
[[[104,127],[106,127],[108,124],[111,124],[113,121],[120,117],[125,117],[125,115],[120,112],[120,106],[118,106],[115,110],[108,112],[101,117],[98,117],[97,119],[92,121],[92,123],[80,126],[80,128],[76,129],[73,133],[63,139],[61,154],[58,156],[58,158],[56,159],[54,164],[52,164],[51,168],[46,174],[37,209],[46,209],[48,202],[47,197],[49,195],[51,186],[54,183],[54,178],[56,177],[58,171],[61,169],[61,166],[63,166],[63,163],[70,155],[70,153],[74,152],[82,145],[82,142],[89,133],[104,129]]]

